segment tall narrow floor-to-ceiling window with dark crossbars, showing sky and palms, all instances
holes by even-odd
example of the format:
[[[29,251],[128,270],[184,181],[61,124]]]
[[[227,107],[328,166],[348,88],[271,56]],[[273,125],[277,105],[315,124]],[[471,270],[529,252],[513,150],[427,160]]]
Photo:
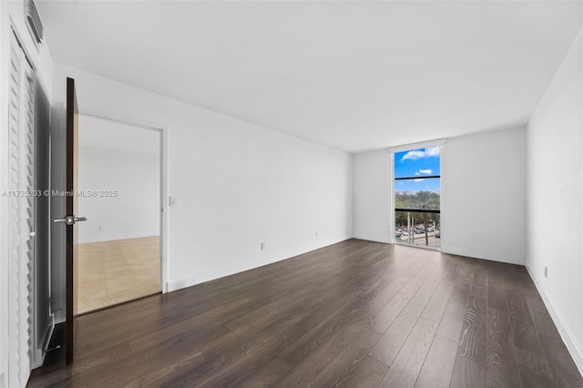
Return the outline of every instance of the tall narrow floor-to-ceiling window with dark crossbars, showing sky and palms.
[[[394,240],[440,248],[441,147],[393,152]]]

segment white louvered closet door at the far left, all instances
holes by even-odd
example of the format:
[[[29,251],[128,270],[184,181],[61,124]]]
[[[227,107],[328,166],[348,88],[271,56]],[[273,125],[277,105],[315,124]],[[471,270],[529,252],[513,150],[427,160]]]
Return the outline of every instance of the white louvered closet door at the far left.
[[[24,386],[30,374],[35,236],[35,80],[32,67],[11,40],[9,117],[9,338],[8,386]]]

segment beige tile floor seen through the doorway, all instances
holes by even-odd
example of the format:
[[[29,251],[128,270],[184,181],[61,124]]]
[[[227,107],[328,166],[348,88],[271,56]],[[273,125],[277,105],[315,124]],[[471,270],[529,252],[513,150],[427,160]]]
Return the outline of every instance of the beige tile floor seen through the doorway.
[[[160,291],[159,236],[77,248],[77,314]]]

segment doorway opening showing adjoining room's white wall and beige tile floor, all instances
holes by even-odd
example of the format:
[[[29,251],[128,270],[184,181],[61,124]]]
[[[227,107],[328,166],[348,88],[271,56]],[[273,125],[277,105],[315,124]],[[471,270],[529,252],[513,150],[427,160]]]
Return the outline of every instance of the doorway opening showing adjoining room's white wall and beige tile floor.
[[[81,115],[77,314],[161,291],[161,131]]]

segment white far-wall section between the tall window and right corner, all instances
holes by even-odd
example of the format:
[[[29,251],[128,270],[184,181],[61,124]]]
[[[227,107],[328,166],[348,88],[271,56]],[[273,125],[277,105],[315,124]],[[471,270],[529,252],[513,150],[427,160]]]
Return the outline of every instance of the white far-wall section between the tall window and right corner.
[[[526,131],[450,138],[442,155],[442,250],[524,265]]]

